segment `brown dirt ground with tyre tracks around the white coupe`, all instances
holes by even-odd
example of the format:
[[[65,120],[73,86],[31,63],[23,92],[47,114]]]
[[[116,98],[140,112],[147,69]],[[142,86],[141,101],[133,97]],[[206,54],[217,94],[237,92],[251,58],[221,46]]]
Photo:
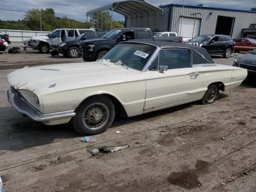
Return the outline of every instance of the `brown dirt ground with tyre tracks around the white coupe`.
[[[234,59],[214,57],[216,63],[228,65]],[[20,116],[6,98],[6,74],[14,68],[69,61],[31,50],[0,54],[4,192],[256,191],[255,78],[221,92],[214,104],[193,102],[118,117],[106,132],[94,136],[96,142],[84,143],[69,124],[33,122]],[[130,147],[110,154],[90,153],[93,148],[121,144]]]

